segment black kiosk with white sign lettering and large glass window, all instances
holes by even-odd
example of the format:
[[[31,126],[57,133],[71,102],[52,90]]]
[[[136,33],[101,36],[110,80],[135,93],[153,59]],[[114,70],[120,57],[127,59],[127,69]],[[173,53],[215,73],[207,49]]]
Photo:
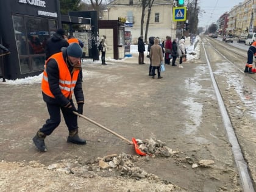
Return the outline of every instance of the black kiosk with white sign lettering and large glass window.
[[[40,74],[46,40],[61,26],[58,0],[0,2],[0,43],[11,54],[0,58],[0,76],[17,79]]]

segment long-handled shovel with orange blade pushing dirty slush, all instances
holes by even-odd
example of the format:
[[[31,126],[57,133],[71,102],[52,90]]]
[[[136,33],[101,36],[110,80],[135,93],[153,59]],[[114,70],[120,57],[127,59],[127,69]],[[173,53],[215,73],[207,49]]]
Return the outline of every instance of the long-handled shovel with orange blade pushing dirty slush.
[[[112,133],[113,135],[116,135],[116,137],[121,138],[122,140],[126,141],[127,143],[133,144],[135,152],[137,154],[139,154],[139,155],[147,155],[146,153],[140,151],[140,149],[138,148],[138,144],[137,144],[137,141],[136,141],[135,138],[132,138],[132,141],[129,141],[129,140],[127,140],[127,138],[124,138],[123,136],[119,135],[118,133],[113,132],[113,130],[110,130],[107,127],[102,126],[101,124],[97,123],[96,121],[93,121],[92,119],[90,119],[90,118],[88,118],[88,117],[86,117],[84,115],[81,115],[81,114],[79,114],[77,112],[73,112],[73,113],[76,114],[77,116],[80,116],[81,118],[84,118],[85,120],[89,121],[90,123],[93,123],[94,125],[96,125],[98,127],[101,127],[104,130],[107,130],[108,132]]]

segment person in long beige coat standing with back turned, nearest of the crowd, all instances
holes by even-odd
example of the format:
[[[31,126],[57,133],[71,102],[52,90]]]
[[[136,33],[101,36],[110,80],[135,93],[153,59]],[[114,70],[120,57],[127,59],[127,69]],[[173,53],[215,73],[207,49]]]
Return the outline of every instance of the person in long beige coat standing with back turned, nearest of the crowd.
[[[162,79],[163,77],[160,76],[161,74],[160,65],[163,62],[163,52],[162,52],[162,47],[159,44],[158,38],[155,38],[154,44],[151,46],[149,55],[152,60],[152,79],[155,78],[156,68],[157,68],[158,79]]]

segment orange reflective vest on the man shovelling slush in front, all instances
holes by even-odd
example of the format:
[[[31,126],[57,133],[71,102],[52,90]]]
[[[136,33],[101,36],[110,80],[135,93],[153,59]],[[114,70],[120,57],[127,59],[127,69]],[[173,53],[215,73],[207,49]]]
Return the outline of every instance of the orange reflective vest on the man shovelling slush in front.
[[[57,62],[58,68],[59,68],[60,90],[62,91],[62,94],[66,98],[70,99],[72,96],[74,87],[76,86],[79,70],[74,71],[73,76],[71,77],[68,66],[67,66],[65,60],[63,59],[62,52],[52,55],[51,57],[49,57],[49,59],[54,59]],[[49,82],[48,82],[48,75],[46,73],[46,65],[47,65],[49,59],[46,60],[46,63],[44,66],[41,89],[44,94],[48,95],[51,98],[55,98],[50,90]]]

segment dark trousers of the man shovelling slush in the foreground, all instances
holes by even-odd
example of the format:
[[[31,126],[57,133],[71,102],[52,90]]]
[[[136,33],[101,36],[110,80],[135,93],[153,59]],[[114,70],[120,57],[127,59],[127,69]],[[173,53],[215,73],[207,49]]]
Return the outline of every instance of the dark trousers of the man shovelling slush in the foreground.
[[[71,102],[73,103],[73,101]],[[40,132],[43,132],[46,135],[51,135],[54,129],[56,129],[56,127],[58,127],[60,124],[60,110],[62,110],[62,114],[65,119],[65,123],[68,127],[68,130],[71,131],[78,128],[77,115],[67,113],[64,107],[60,107],[60,105],[57,104],[46,103],[46,105],[50,118],[46,120],[46,123],[39,130]]]

